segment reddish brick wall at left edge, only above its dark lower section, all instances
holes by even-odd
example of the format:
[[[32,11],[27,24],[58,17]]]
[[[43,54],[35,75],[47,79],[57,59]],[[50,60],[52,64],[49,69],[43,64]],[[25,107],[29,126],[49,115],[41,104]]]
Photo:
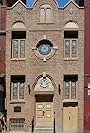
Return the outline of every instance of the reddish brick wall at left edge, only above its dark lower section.
[[[5,74],[6,7],[2,6],[0,13],[0,73]]]

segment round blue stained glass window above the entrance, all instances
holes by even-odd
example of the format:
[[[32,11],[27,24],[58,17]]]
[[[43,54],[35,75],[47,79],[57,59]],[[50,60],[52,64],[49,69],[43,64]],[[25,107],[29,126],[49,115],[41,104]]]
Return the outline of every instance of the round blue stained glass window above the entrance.
[[[51,46],[49,44],[43,43],[38,47],[38,50],[39,50],[40,54],[47,55],[51,52]]]

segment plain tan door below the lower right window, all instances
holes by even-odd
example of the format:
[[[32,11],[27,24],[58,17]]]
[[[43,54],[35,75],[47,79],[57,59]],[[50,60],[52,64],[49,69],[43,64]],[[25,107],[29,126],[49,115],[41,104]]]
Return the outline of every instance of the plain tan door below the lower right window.
[[[78,108],[64,107],[63,108],[63,131],[77,132],[78,131]]]

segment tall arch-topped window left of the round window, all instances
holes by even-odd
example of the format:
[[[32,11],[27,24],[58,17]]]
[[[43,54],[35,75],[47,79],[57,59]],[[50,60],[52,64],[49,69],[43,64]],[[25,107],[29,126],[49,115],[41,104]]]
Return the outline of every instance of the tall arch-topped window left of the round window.
[[[12,58],[25,58],[26,27],[23,22],[12,25]]]

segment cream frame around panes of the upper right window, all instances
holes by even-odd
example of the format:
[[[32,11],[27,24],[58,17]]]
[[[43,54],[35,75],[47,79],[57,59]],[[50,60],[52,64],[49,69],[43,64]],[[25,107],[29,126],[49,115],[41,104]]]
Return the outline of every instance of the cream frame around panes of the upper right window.
[[[65,57],[65,41],[67,41],[67,40],[69,40],[70,41],[70,57]],[[76,57],[72,57],[72,41],[73,40],[75,40],[76,42],[77,42],[77,55],[76,55]],[[74,60],[76,60],[78,58],[78,39],[76,39],[76,38],[66,38],[66,39],[64,39],[64,59],[74,59]]]

